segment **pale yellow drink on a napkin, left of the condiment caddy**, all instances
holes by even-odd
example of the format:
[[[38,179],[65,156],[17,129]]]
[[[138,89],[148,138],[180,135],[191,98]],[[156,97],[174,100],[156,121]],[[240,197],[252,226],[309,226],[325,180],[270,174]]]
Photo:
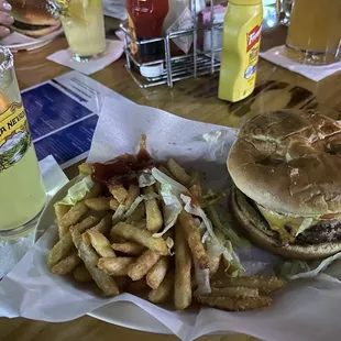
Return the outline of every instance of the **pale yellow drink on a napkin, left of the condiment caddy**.
[[[73,58],[89,62],[106,51],[102,0],[57,0]]]

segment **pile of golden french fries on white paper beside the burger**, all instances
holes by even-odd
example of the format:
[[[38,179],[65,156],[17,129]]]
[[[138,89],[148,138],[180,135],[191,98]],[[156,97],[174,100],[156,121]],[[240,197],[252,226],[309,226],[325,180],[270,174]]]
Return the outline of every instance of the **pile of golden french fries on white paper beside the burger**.
[[[188,174],[172,158],[158,169],[185,186],[202,208],[222,197],[205,191],[200,174]],[[91,164],[81,164],[79,170],[91,175]],[[131,213],[139,196],[144,199]],[[125,292],[154,304],[173,300],[180,310],[195,302],[224,310],[263,308],[271,304],[271,294],[285,285],[276,277],[227,276],[223,270],[231,275],[231,266],[221,255],[209,255],[198,219],[185,209],[172,229],[155,235],[164,229],[165,212],[158,183],[142,188],[134,183],[128,188],[95,183],[79,202],[55,205],[59,240],[48,253],[48,268],[56,275],[73,274],[77,282],[95,282],[105,295]],[[223,244],[222,231],[215,227],[215,233]],[[209,272],[210,293],[197,290],[195,265]]]

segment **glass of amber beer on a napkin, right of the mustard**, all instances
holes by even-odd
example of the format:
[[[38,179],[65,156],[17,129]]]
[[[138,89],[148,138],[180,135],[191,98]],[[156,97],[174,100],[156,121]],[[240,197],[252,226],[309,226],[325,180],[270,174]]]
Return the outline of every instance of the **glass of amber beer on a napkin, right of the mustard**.
[[[302,64],[341,61],[341,0],[294,0],[286,45]]]

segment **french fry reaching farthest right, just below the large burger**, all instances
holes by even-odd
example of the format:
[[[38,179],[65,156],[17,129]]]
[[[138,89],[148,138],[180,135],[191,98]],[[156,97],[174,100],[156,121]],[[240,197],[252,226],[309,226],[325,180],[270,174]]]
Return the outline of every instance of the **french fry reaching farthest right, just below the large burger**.
[[[211,286],[216,288],[243,286],[258,289],[260,295],[270,295],[285,287],[286,282],[278,277],[242,276],[215,279]]]

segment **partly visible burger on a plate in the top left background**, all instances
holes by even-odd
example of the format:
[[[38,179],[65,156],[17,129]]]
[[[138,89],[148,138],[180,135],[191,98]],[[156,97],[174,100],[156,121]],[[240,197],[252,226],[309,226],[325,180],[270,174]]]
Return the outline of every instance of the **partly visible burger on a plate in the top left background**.
[[[14,23],[12,31],[41,37],[59,29],[56,6],[52,0],[10,0]]]

